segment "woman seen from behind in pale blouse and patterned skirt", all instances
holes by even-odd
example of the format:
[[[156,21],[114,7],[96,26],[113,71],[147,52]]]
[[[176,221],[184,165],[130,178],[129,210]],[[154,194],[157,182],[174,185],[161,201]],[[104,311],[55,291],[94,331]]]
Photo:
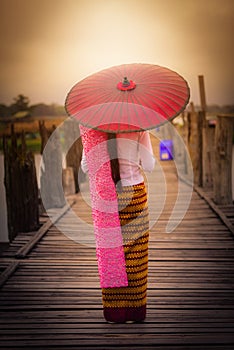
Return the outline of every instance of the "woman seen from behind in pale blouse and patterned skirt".
[[[154,168],[147,131],[108,134],[112,178],[116,184],[124,243],[127,287],[102,288],[104,317],[108,322],[141,322],[146,317],[149,216],[142,170]],[[81,167],[88,171],[85,156]]]

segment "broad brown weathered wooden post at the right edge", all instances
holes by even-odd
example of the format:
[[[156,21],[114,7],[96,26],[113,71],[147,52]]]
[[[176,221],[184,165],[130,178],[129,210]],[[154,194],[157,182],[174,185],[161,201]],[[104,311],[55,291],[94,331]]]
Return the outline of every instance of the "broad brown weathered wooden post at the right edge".
[[[234,116],[217,116],[215,130],[214,200],[232,204],[232,143]]]

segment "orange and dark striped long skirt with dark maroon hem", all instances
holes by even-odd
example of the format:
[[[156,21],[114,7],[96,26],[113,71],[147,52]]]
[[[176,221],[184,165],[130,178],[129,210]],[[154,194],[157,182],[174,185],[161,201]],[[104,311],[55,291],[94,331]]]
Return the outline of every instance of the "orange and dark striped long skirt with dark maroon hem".
[[[149,214],[144,183],[118,193],[128,286],[103,288],[103,312],[109,322],[141,322],[146,317]]]

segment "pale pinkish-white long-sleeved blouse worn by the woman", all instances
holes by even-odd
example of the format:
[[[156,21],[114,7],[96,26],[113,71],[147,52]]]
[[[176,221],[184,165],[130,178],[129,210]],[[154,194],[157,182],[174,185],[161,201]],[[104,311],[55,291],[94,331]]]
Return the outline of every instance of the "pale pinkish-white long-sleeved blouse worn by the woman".
[[[151,172],[155,165],[149,132],[117,134],[116,140],[122,186],[132,186],[143,182],[142,170]],[[84,173],[88,172],[84,152],[81,168]]]

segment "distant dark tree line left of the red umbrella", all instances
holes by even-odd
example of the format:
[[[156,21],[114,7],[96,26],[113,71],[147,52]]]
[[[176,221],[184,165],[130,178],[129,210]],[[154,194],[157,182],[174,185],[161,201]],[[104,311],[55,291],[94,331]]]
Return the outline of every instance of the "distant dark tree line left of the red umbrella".
[[[30,100],[27,96],[19,94],[13,99],[10,105],[0,104],[0,118],[14,117],[19,112],[25,112],[25,116],[40,117],[40,116],[59,116],[64,115],[65,109],[57,104],[47,105],[38,103],[30,105]]]

